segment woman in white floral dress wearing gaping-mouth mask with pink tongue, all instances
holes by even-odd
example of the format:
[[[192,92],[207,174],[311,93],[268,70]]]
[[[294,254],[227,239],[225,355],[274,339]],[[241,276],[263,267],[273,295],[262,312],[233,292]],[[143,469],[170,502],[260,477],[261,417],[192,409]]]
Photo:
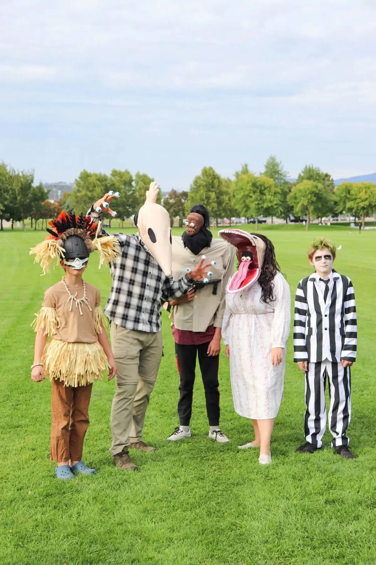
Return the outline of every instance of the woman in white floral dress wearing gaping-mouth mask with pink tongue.
[[[253,423],[260,464],[271,463],[270,442],[281,405],[290,331],[290,287],[272,242],[261,234],[224,229],[237,247],[239,269],[228,283],[222,337],[230,360],[235,411]]]

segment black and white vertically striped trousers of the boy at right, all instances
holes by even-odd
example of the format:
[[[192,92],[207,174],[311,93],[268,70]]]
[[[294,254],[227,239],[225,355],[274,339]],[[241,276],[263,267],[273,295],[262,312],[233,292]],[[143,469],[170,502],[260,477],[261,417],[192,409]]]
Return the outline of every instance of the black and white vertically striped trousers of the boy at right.
[[[329,381],[329,428],[333,440],[331,445],[348,445],[346,430],[351,419],[351,371],[340,363],[329,359],[308,363],[306,371],[306,414],[304,434],[306,441],[321,447],[326,428],[325,387]]]

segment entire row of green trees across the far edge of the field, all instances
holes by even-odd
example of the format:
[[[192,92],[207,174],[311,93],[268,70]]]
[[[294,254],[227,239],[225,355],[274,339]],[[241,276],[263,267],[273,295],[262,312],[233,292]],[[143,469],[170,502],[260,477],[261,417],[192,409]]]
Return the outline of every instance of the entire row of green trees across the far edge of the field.
[[[371,182],[352,184],[343,182],[334,186],[329,173],[312,165],[305,166],[295,182],[287,180],[288,173],[282,163],[272,155],[267,160],[262,173],[250,171],[244,164],[233,175],[224,178],[213,167],[204,167],[200,175],[194,177],[188,191],[170,190],[163,199],[163,206],[171,216],[171,224],[183,219],[192,205],[203,203],[209,209],[214,225],[219,219],[254,218],[258,229],[258,218],[283,218],[286,222],[292,217],[304,217],[307,229],[312,219],[348,214],[361,218],[364,227],[366,216],[376,213],[376,185]],[[120,192],[121,198],[114,208],[121,221],[131,218],[143,205],[145,192],[154,179],[145,173],[113,169],[110,175],[82,171],[71,193],[64,193],[60,202],[50,202],[48,191],[41,183],[34,185],[32,172],[15,171],[0,163],[0,220],[21,221],[26,218],[34,221],[36,229],[39,220],[51,219],[62,208],[86,211],[103,194],[113,190]],[[161,194],[159,196],[161,202]],[[110,222],[110,216],[109,216]]]

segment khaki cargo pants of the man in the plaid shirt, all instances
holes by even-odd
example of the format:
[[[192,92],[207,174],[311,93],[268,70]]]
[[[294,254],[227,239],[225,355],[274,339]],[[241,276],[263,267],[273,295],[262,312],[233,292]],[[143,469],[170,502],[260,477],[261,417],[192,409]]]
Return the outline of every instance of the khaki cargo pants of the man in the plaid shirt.
[[[117,366],[110,453],[116,455],[131,442],[141,441],[149,398],[162,359],[162,335],[136,332],[112,322],[110,336]]]

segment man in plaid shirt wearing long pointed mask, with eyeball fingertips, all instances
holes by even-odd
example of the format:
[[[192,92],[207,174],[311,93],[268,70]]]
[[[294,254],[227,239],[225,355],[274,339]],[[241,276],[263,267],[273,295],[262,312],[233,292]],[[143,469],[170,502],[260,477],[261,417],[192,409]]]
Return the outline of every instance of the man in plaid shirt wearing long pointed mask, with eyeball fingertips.
[[[195,280],[205,277],[207,267],[201,259],[189,274],[178,281],[172,280],[169,214],[155,202],[156,183],[151,184],[149,193],[154,194],[153,203],[149,202],[148,206],[145,203],[135,216],[140,233],[115,234],[121,253],[110,266],[112,288],[104,310],[110,320],[117,365],[110,453],[117,467],[134,471],[137,467],[129,457],[129,447],[142,451],[156,449],[142,441],[142,431],[162,358],[161,301],[182,296]],[[105,194],[92,205],[88,215],[94,221],[101,218],[103,211],[116,215],[109,208],[112,198],[114,194]],[[101,234],[107,235],[104,231]],[[165,272],[153,255],[163,264]]]

